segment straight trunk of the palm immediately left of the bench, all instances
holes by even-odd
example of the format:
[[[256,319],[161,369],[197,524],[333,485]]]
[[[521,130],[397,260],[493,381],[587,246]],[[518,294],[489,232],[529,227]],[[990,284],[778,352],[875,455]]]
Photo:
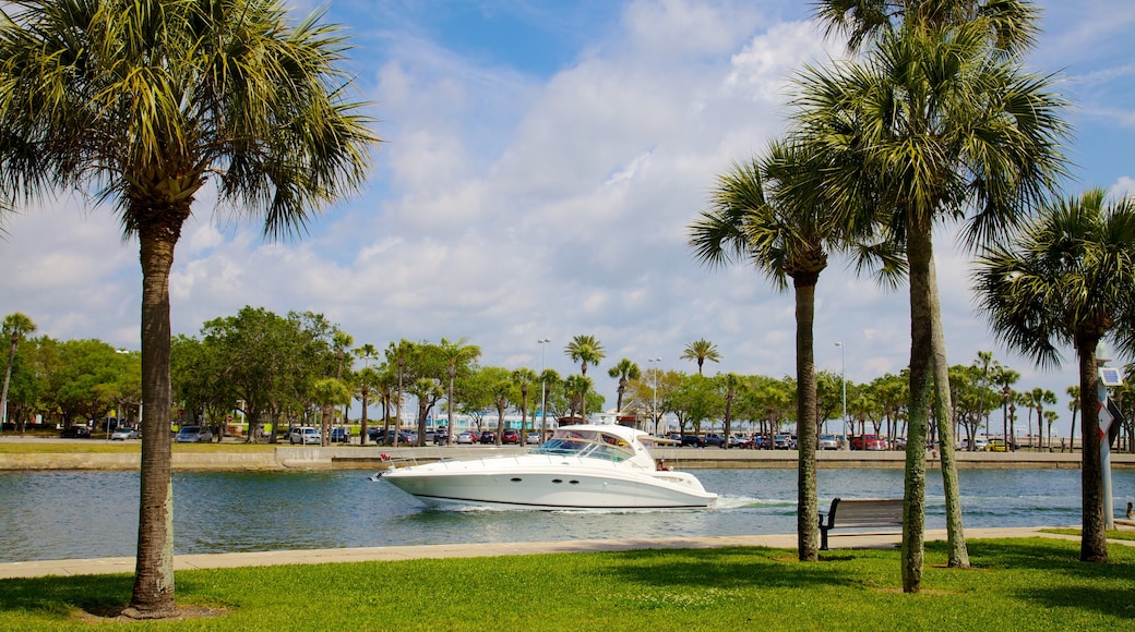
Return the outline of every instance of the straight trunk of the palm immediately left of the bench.
[[[801,562],[819,558],[819,527],[816,499],[816,365],[813,323],[816,308],[816,276],[796,283],[796,399],[797,442],[797,548]]]

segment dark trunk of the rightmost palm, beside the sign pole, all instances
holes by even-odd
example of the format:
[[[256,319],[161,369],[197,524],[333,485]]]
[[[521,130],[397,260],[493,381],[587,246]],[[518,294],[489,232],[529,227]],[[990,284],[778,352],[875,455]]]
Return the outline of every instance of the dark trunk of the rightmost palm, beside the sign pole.
[[[1100,455],[1100,412],[1095,345],[1099,336],[1077,335],[1079,356],[1079,419],[1083,442],[1081,466],[1081,562],[1107,562],[1108,539],[1103,516],[1103,463]]]

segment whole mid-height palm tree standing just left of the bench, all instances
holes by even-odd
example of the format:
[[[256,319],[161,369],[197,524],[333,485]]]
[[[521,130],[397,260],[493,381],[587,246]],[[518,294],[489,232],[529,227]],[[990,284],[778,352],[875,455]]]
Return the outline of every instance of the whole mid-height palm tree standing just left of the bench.
[[[871,219],[863,225],[839,224],[816,199],[815,189],[801,185],[814,182],[818,172],[819,166],[796,147],[774,144],[764,159],[735,163],[720,176],[709,210],[703,211],[688,229],[689,245],[704,264],[749,263],[780,291],[787,291],[791,280],[796,297],[797,419],[812,419],[816,410],[813,323],[816,284],[827,267],[827,249],[849,249],[856,238],[867,238],[873,227]],[[886,265],[883,268],[893,272]],[[699,362],[699,375],[700,368]],[[816,426],[801,424],[798,432],[798,548],[801,561],[814,562],[819,552],[815,520]]]

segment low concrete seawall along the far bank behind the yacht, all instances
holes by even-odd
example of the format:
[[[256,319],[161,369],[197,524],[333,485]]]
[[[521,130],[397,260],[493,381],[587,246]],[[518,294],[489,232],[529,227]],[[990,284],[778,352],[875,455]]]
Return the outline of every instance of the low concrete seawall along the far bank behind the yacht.
[[[454,459],[522,454],[523,447],[277,447],[255,452],[175,452],[175,470],[317,470],[384,468],[387,455],[397,462],[428,462],[443,456]],[[796,468],[794,450],[663,449],[656,456],[679,468]],[[959,469],[1079,469],[1078,453],[1050,452],[958,452]],[[819,468],[897,468],[905,464],[902,452],[818,452]],[[0,470],[136,470],[137,453],[28,453],[0,454]],[[939,469],[941,462],[927,456],[926,467]],[[1112,454],[1113,469],[1135,469],[1135,455]]]

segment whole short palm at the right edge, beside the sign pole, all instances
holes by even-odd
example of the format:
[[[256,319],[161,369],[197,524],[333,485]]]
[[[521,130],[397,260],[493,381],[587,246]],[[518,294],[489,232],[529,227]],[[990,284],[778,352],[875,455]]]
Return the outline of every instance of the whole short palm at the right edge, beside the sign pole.
[[[1108,339],[1127,356],[1135,351],[1135,198],[1108,203],[1099,188],[1061,198],[1006,244],[982,253],[974,287],[990,325],[1011,349],[1040,366],[1058,365],[1061,345],[1076,350],[1079,557],[1105,562],[1096,347]]]

